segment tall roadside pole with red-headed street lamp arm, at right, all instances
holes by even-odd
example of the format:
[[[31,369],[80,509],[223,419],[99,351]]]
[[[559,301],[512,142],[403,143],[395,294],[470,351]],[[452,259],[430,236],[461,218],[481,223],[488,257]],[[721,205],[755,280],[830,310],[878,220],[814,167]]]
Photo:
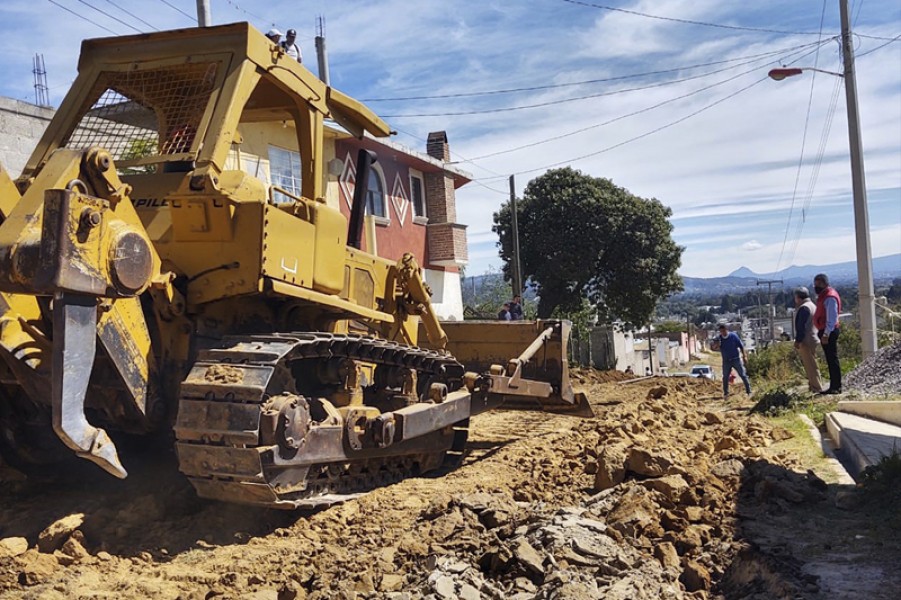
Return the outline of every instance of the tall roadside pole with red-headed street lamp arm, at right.
[[[857,109],[857,78],[854,75],[854,45],[848,0],[839,0],[842,18],[842,57],[844,72],[834,73],[813,67],[773,69],[771,79],[782,81],[804,71],[818,71],[845,80],[848,106],[848,141],[851,149],[851,188],[854,198],[854,232],[857,242],[857,293],[860,299],[860,341],[864,358],[876,352],[876,303],[873,293],[873,260],[870,249],[870,218],[867,213],[867,186],[863,172],[863,144],[860,140],[860,114]]]

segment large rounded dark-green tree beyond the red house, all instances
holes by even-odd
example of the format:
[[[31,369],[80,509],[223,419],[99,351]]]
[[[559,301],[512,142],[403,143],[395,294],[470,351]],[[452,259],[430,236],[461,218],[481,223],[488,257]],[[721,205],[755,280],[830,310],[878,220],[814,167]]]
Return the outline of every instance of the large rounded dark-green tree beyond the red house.
[[[646,323],[657,302],[682,289],[682,248],[672,239],[672,211],[609,179],[553,169],[526,186],[518,206],[524,278],[538,288],[538,316],[578,311],[582,300],[601,321]],[[511,211],[494,215],[504,274],[511,275]]]

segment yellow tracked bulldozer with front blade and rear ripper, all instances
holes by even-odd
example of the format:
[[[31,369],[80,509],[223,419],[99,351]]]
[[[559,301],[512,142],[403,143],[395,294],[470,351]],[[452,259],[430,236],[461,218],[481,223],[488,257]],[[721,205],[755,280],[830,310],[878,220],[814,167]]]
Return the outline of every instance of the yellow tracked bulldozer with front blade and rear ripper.
[[[585,413],[566,322],[448,342],[416,260],[361,250],[365,186],[349,219],[323,200],[327,118],[390,133],[246,23],[83,43],[21,176],[0,171],[7,460],[125,477],[113,438],[173,432],[200,496],[316,507],[459,458],[511,399]],[[288,119],[299,195],[229,166]]]

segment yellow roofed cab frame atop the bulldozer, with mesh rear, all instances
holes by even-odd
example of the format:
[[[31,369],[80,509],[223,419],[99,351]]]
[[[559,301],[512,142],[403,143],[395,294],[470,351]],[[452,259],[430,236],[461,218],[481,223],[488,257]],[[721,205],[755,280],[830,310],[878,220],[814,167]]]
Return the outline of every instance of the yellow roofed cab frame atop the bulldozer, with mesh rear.
[[[325,118],[357,136],[390,132],[247,23],[86,40],[78,78],[21,180],[58,148],[95,146],[135,186],[142,174],[214,177],[241,167],[245,136],[277,123],[296,132],[290,145],[300,149],[300,195],[314,200],[323,194]]]

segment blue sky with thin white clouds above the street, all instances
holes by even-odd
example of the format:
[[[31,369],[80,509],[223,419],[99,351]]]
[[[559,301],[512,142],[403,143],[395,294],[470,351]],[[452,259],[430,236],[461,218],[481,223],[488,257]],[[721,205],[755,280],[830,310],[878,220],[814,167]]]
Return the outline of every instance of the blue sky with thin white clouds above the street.
[[[849,1],[872,254],[885,256],[901,253],[901,2]],[[766,76],[842,70],[838,0],[211,0],[211,13],[296,29],[314,72],[322,16],[334,87],[410,148],[447,131],[474,178],[457,190],[467,275],[501,266],[491,224],[508,177],[521,195],[563,166],[670,207],[683,275],[856,256],[842,80]],[[195,0],[2,0],[0,95],[34,101],[39,52],[56,105],[82,39],[194,23]]]

